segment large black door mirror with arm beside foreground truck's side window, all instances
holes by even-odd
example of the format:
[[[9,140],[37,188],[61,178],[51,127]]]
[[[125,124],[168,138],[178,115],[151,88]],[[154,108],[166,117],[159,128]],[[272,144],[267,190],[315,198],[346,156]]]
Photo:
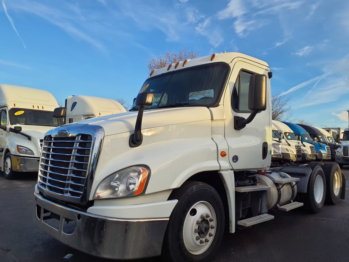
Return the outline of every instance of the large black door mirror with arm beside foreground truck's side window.
[[[247,117],[247,119],[240,116],[234,117],[235,130],[243,129],[248,123],[251,123],[259,111],[264,111],[267,109],[266,75],[251,75],[250,84],[248,86],[248,109],[250,109],[252,113]]]

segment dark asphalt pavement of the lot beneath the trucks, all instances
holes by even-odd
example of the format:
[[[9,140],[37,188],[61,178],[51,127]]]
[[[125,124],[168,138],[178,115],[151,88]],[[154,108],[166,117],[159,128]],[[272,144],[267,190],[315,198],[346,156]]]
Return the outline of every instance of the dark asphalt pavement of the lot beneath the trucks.
[[[273,220],[226,233],[213,261],[349,261],[349,166],[342,172],[346,200],[325,205],[318,214],[302,208],[275,211]],[[34,225],[36,182],[36,173],[17,180],[0,175],[0,261],[112,261],[74,250]],[[150,261],[160,259],[137,260]]]

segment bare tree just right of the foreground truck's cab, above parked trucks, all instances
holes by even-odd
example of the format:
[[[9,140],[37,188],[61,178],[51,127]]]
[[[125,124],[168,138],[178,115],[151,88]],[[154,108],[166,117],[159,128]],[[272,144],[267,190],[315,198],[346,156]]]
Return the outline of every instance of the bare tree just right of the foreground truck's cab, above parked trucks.
[[[293,115],[292,108],[288,105],[290,97],[275,94],[272,97],[272,119],[277,121],[290,122]],[[292,120],[294,121],[294,120]]]

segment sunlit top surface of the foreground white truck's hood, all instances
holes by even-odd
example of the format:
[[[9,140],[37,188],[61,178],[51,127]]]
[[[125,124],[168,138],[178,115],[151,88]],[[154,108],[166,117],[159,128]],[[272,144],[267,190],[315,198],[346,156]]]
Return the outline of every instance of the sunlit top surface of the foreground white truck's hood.
[[[125,112],[109,116],[101,116],[68,124],[99,125],[104,129],[104,135],[119,134],[134,131],[138,111]],[[159,126],[196,122],[211,119],[210,110],[207,107],[179,107],[166,109],[144,110],[142,118],[142,130]],[[60,128],[62,128],[61,126]],[[64,129],[64,128],[62,128]]]

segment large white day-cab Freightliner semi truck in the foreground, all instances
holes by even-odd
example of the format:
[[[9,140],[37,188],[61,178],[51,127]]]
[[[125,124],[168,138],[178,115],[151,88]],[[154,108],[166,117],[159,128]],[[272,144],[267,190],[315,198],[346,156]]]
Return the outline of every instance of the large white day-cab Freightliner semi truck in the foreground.
[[[35,223],[95,256],[207,261],[270,209],[337,203],[336,163],[269,168],[271,77],[241,53],[181,61],[152,71],[131,111],[47,132]]]

